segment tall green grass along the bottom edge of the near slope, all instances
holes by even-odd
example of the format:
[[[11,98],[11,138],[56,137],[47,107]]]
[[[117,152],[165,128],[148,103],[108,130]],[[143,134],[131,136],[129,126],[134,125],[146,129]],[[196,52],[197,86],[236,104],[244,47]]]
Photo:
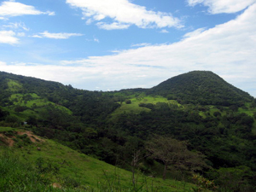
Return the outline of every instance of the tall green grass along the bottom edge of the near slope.
[[[178,187],[170,190],[164,186],[154,185],[152,179],[145,177],[143,173],[137,174],[135,183],[121,184],[123,178],[116,168],[114,173],[102,172],[104,179],[96,181],[96,188],[80,185],[79,181],[72,177],[57,176],[55,167],[48,161],[38,158],[35,162],[25,161],[20,154],[15,154],[9,149],[0,149],[0,191],[4,192],[48,192],[48,191],[88,191],[88,192],[156,192],[156,191],[188,191]],[[53,188],[53,181],[58,180],[61,188]]]

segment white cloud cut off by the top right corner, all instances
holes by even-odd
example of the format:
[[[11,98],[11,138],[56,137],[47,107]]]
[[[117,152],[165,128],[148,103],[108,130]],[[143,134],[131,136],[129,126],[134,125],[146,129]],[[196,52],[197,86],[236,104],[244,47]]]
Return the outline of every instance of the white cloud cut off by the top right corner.
[[[211,14],[231,14],[246,9],[255,3],[255,0],[188,0],[190,6],[204,4],[209,7]]]

